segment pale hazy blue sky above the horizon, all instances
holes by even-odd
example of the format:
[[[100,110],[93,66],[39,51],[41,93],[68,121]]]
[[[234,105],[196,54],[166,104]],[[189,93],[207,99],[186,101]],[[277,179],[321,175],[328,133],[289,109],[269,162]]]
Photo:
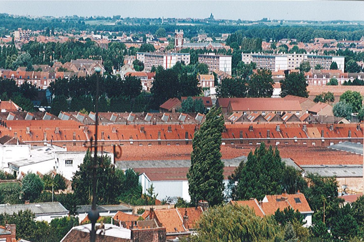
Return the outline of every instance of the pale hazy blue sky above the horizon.
[[[258,20],[363,20],[362,1],[0,1],[0,13]],[[0,23],[1,25],[1,23]]]

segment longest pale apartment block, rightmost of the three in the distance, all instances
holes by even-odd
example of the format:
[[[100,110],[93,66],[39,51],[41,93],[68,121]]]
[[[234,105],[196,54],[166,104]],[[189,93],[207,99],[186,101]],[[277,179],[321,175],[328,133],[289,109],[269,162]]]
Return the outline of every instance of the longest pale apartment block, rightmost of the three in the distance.
[[[308,62],[311,69],[316,65],[321,65],[324,70],[330,70],[331,63],[336,62],[338,70],[344,72],[344,56],[318,55],[314,53],[241,53],[241,60],[246,63],[256,63],[257,69],[269,69],[277,72],[278,70],[294,70],[302,62]]]

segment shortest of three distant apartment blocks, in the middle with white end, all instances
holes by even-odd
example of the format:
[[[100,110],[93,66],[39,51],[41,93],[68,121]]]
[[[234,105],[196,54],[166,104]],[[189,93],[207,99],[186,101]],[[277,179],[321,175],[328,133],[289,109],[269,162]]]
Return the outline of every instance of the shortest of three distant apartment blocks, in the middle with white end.
[[[231,59],[231,55],[216,55],[214,53],[198,55],[198,62],[206,64],[211,73],[219,70],[231,75]]]

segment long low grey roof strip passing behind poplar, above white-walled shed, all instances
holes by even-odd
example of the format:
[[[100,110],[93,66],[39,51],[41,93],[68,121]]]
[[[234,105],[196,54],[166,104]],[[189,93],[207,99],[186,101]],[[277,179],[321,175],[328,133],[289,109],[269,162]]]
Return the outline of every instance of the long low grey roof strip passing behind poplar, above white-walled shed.
[[[239,166],[241,161],[246,162],[246,156],[239,156],[233,159],[222,159],[225,166]],[[300,169],[296,163],[293,162],[290,158],[282,158],[282,161],[286,163],[286,165],[293,166],[296,169]],[[116,165],[119,169],[128,169],[128,168],[173,168],[173,167],[190,167],[191,160],[128,160],[128,161],[117,161]]]

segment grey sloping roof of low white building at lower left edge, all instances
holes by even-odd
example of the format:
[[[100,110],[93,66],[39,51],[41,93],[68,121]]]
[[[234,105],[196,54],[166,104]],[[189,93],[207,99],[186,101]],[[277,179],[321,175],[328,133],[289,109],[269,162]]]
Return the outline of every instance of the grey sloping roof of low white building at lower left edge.
[[[0,214],[2,213],[13,214],[25,210],[30,210],[35,215],[52,214],[52,213],[67,213],[67,214],[69,213],[69,211],[65,207],[63,207],[63,205],[59,202],[0,205]]]

